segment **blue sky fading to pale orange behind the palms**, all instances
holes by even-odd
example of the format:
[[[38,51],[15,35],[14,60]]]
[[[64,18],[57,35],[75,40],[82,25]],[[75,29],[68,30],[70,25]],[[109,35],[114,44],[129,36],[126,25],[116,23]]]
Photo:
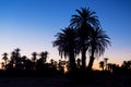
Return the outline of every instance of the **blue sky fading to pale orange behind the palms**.
[[[48,60],[59,60],[52,47],[55,35],[70,24],[75,10],[91,8],[96,12],[100,25],[111,38],[103,58],[121,64],[131,60],[131,0],[0,0],[0,59],[3,52],[21,49],[22,55],[48,51]],[[88,61],[88,58],[87,58]]]

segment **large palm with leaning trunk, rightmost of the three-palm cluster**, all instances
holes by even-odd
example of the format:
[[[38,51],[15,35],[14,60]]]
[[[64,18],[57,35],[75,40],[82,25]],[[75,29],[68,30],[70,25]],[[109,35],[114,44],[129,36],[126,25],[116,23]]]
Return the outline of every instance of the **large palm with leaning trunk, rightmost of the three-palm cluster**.
[[[92,70],[93,62],[95,58],[100,57],[105,52],[105,48],[108,48],[108,45],[110,46],[108,35],[105,34],[105,32],[102,28],[96,28],[92,30],[92,35],[88,40],[88,52],[91,54],[90,62],[88,62],[88,69]]]

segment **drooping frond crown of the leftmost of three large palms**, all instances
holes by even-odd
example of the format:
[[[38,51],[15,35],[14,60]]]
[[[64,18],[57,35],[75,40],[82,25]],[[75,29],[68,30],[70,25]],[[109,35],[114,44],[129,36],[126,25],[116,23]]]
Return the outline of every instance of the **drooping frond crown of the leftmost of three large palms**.
[[[76,53],[76,32],[72,28],[61,29],[62,33],[56,35],[57,40],[53,41],[53,47],[58,47],[59,54],[66,58],[70,55],[70,51]]]

